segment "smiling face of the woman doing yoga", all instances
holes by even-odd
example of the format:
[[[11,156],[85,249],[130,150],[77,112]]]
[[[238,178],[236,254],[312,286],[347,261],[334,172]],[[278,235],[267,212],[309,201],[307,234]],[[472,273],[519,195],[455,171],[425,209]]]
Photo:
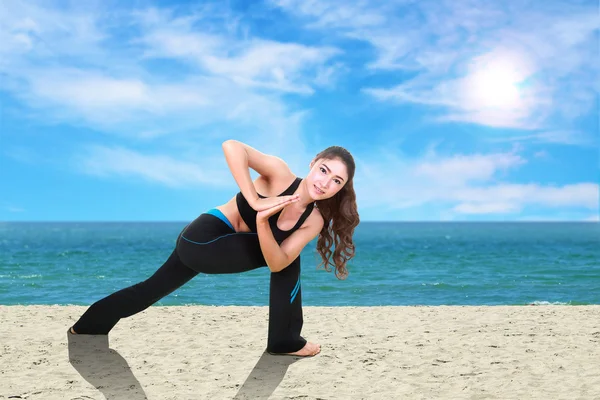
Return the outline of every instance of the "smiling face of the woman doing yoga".
[[[339,159],[313,160],[306,180],[308,192],[315,200],[324,200],[335,196],[348,180],[346,164]]]

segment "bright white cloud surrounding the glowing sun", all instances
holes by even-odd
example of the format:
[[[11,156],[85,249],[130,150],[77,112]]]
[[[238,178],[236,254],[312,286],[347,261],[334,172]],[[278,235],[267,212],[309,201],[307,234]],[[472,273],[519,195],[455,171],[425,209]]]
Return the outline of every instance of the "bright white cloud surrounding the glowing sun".
[[[333,1],[273,3],[308,27],[372,45],[373,70],[414,73],[364,92],[381,101],[441,107],[441,121],[569,129],[595,101],[600,24],[591,4],[401,0],[349,3],[340,11]],[[501,84],[511,70],[510,81]],[[483,72],[485,79],[474,80]]]

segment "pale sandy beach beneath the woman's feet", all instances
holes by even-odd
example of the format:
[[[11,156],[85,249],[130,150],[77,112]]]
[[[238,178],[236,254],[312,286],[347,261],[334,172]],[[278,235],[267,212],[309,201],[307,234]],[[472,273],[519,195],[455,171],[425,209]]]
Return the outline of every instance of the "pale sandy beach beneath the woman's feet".
[[[0,306],[0,399],[600,399],[600,306],[305,307],[313,358],[265,352],[266,307]]]

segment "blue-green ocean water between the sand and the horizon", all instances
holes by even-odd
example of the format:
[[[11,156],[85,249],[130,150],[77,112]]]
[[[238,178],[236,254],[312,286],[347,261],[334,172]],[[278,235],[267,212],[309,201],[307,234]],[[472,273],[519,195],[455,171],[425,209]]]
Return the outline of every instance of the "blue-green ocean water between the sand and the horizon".
[[[0,304],[89,305],[167,259],[185,222],[0,223]],[[600,304],[599,223],[364,222],[341,281],[302,252],[305,306]],[[156,305],[253,305],[269,270],[199,274]]]

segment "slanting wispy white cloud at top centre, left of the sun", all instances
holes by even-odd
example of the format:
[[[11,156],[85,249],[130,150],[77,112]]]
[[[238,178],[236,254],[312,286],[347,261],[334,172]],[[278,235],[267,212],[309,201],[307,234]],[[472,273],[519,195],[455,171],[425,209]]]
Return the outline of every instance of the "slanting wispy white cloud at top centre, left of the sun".
[[[154,14],[154,11],[150,11]],[[312,94],[311,85],[322,80],[320,71],[340,54],[333,47],[311,47],[258,38],[237,39],[199,31],[200,17],[165,20],[140,14],[147,58],[174,58],[194,62],[209,74],[227,77],[238,84],[283,92]]]

